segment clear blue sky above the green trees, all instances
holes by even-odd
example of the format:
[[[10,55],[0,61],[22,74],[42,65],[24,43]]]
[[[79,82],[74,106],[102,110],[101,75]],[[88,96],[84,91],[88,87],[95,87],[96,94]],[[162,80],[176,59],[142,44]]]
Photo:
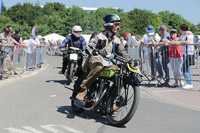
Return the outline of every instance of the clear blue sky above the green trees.
[[[60,2],[66,6],[80,7],[117,7],[125,12],[134,8],[150,10],[153,13],[170,11],[181,15],[193,24],[200,23],[200,0],[2,0],[6,8],[17,3],[36,3],[41,5],[47,2]]]

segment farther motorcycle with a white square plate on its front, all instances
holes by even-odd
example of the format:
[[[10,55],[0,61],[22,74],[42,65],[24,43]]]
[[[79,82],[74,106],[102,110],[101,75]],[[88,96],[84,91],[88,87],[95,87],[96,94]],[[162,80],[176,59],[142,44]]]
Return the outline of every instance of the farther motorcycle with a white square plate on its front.
[[[68,62],[68,69],[65,72],[67,78],[67,85],[74,81],[74,75],[77,71],[77,63],[79,60],[80,49],[76,47],[69,47],[69,62]]]

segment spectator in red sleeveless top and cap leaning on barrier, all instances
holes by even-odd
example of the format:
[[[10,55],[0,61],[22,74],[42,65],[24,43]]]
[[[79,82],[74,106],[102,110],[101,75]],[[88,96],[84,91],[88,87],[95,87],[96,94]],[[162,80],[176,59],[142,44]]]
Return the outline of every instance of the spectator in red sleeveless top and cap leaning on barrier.
[[[178,33],[176,29],[170,30],[170,42],[173,43],[173,41],[177,41],[179,39]],[[172,87],[183,87],[184,83],[181,81],[181,65],[183,63],[183,50],[182,46],[169,46],[169,56],[170,56],[170,65],[172,68],[172,72],[174,75],[175,83],[172,85]],[[179,83],[178,83],[179,82]]]

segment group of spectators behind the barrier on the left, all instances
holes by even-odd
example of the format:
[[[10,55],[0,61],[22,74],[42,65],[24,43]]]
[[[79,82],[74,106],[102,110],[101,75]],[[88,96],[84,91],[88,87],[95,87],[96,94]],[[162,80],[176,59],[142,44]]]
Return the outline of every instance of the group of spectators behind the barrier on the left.
[[[42,36],[32,35],[30,39],[20,36],[20,28],[16,28],[13,31],[12,26],[6,26],[0,34],[0,79],[7,79],[9,76],[8,63],[13,64],[13,50],[17,47],[17,54],[20,54],[19,50],[23,48],[26,53],[34,52],[36,47],[49,47],[45,38]],[[18,56],[20,61],[20,56]],[[14,72],[14,74],[17,74]]]

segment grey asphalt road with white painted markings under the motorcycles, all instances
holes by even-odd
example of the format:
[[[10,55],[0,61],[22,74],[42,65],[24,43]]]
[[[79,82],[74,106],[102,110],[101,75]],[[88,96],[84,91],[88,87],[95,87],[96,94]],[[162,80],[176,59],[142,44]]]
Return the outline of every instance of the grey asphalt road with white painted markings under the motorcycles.
[[[72,85],[58,74],[62,57],[48,57],[49,66],[28,78],[0,82],[0,133],[199,133],[200,111],[155,99],[141,91],[136,114],[116,128],[91,111],[75,114]]]

